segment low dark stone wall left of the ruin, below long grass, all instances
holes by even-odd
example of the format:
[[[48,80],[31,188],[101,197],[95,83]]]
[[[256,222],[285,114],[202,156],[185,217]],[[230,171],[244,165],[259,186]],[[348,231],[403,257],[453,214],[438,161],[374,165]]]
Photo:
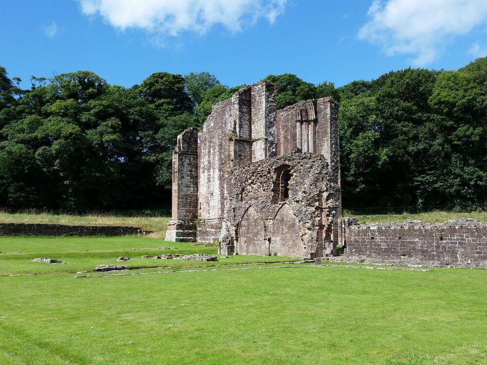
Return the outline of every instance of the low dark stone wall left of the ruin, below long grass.
[[[137,227],[0,223],[0,236],[129,236],[142,233]]]

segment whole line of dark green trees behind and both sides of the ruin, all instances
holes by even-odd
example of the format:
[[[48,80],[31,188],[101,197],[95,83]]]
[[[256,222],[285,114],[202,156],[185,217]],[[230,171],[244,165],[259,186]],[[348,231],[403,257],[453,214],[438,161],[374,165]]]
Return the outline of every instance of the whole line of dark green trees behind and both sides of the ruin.
[[[340,103],[345,207],[485,206],[487,58],[338,88],[288,73],[264,80],[279,109]],[[242,87],[206,72],[153,73],[131,88],[88,71],[32,76],[27,90],[21,81],[0,67],[0,207],[72,212],[168,206],[177,135]]]

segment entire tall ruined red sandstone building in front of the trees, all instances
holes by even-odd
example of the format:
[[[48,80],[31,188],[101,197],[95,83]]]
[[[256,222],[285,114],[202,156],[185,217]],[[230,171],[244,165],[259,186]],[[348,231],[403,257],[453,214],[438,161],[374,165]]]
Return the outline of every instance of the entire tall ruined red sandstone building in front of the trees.
[[[337,103],[276,110],[274,85],[244,87],[203,130],[178,136],[166,239],[219,242],[220,254],[320,257],[338,242]]]

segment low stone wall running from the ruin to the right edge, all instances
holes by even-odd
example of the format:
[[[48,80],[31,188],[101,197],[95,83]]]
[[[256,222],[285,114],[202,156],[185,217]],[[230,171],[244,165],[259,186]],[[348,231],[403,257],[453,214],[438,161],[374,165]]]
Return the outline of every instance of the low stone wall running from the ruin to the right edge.
[[[428,224],[340,225],[345,231],[345,255],[379,262],[429,266],[487,267],[487,223],[473,219]]]

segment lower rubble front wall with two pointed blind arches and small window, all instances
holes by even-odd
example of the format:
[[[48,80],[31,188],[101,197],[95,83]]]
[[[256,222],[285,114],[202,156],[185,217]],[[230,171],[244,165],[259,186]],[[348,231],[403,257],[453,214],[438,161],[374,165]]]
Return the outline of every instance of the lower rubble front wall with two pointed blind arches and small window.
[[[290,171],[288,196],[273,200],[276,171]],[[322,155],[289,154],[229,171],[222,254],[314,257],[333,250],[339,187]]]

